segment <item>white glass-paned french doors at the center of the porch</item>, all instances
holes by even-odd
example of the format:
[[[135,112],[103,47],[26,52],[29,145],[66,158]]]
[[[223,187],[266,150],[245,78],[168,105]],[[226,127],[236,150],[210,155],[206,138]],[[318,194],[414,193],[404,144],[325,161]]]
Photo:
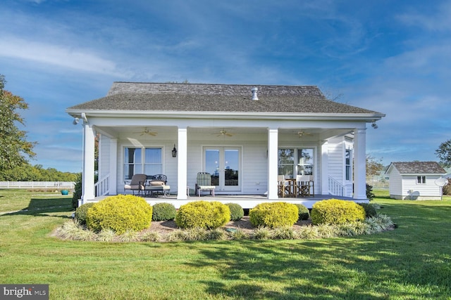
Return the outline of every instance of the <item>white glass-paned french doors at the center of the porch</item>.
[[[211,174],[211,185],[218,192],[241,190],[241,148],[205,147],[204,169]]]

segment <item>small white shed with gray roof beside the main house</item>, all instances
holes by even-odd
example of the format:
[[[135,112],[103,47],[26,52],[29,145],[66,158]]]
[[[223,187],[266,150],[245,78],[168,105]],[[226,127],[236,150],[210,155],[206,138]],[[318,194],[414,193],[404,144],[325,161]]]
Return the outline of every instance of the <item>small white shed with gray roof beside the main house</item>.
[[[402,200],[440,200],[441,188],[435,180],[446,174],[437,162],[392,162],[385,174],[390,176],[390,197]]]

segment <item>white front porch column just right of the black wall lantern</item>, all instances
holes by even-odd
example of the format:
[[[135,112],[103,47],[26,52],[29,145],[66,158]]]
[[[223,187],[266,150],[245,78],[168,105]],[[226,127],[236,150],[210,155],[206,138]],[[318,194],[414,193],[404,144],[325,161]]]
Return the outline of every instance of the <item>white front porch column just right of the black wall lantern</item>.
[[[187,200],[187,129],[178,129],[177,200]]]

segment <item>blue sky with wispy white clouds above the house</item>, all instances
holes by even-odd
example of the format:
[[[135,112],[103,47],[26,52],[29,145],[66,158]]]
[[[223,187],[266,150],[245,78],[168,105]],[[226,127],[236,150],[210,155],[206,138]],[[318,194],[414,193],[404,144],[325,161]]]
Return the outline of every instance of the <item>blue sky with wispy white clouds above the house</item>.
[[[81,171],[67,107],[113,81],[316,85],[383,112],[367,154],[438,161],[451,138],[451,1],[3,0],[0,74],[42,164]]]

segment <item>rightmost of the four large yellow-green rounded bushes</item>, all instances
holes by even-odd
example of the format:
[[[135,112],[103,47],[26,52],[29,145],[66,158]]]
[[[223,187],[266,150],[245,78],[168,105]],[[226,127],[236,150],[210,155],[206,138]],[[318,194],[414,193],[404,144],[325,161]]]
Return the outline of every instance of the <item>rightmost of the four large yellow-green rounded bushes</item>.
[[[365,209],[359,204],[345,200],[322,200],[311,208],[311,223],[345,224],[365,219]]]

